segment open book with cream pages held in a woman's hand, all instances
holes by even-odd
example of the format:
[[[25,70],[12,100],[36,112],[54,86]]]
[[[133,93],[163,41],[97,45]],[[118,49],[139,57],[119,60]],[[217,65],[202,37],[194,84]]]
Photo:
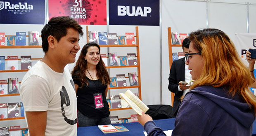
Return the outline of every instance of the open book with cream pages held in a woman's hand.
[[[149,108],[129,89],[124,94],[119,93],[119,95],[129,104],[131,108],[133,108],[133,110],[135,110],[138,115],[142,115],[142,111],[146,113],[147,110],[149,110]]]

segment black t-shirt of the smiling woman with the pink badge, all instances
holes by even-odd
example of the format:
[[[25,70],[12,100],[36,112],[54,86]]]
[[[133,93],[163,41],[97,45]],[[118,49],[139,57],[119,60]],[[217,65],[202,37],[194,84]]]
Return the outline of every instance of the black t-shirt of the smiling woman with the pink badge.
[[[80,87],[80,80],[78,80],[74,75],[72,75],[72,78],[74,83],[78,84]],[[83,115],[92,118],[103,118],[109,116],[109,104],[107,103],[105,96],[107,85],[102,84],[100,80],[90,80],[88,77],[86,77],[86,80],[88,81],[88,86],[87,84],[83,84],[82,88],[78,87],[77,89],[77,109]],[[99,93],[102,93],[104,107],[95,109],[93,94],[98,93],[97,90]]]

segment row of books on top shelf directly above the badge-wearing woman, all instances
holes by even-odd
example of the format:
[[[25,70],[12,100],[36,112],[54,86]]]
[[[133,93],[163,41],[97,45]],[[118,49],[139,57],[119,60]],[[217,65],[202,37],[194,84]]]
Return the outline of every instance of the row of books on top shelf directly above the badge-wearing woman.
[[[98,45],[135,45],[134,33],[117,36],[116,33],[88,31],[89,42]]]

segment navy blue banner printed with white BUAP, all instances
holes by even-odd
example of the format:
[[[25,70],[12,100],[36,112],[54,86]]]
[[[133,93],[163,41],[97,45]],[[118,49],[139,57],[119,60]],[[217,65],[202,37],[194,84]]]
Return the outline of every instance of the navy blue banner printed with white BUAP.
[[[109,24],[159,26],[159,0],[109,0]]]

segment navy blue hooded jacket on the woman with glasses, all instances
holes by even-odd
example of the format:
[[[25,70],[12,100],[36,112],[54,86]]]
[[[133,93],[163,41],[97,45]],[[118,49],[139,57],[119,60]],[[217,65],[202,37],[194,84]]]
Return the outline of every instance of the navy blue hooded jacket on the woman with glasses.
[[[251,136],[254,110],[223,87],[202,86],[189,91],[180,104],[172,136]],[[166,124],[168,125],[168,124]],[[153,121],[148,136],[165,136]]]

